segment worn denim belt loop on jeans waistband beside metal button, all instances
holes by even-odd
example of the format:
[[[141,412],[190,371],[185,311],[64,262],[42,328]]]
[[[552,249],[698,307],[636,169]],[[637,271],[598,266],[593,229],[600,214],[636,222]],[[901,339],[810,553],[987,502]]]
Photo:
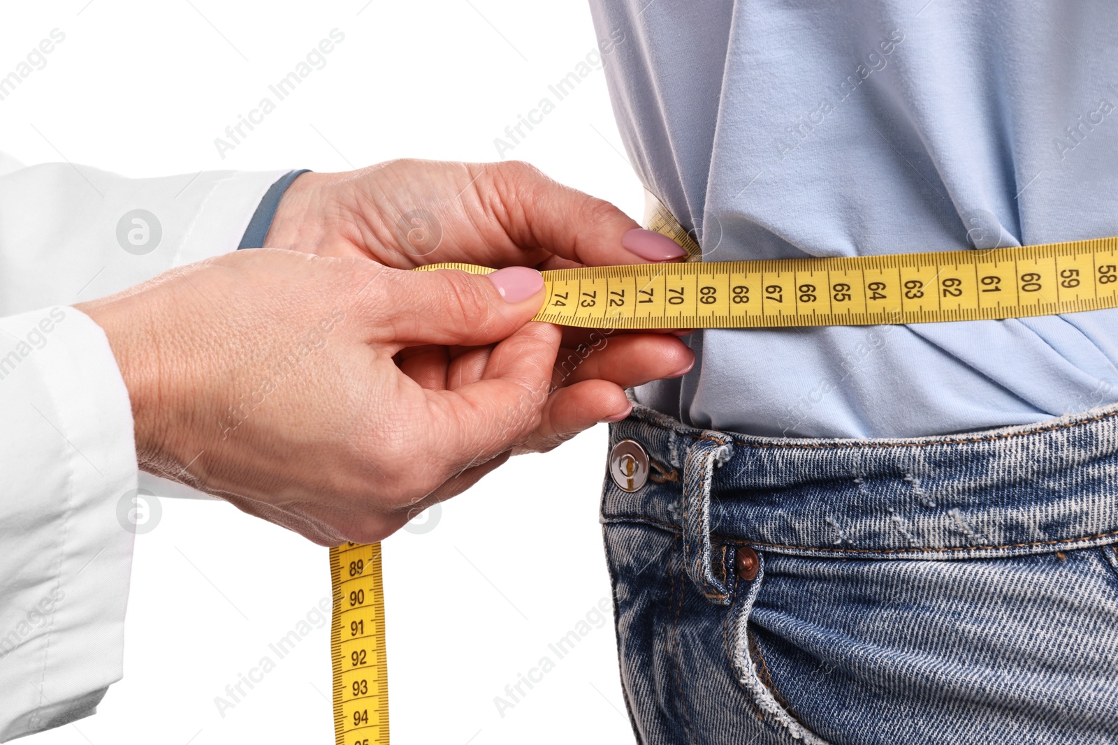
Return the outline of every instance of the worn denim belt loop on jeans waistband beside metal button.
[[[733,452],[730,438],[703,432],[702,439],[686,455],[683,467],[683,562],[688,576],[707,600],[729,605],[732,582],[723,571],[720,580],[713,571],[710,544],[710,488],[714,469]]]

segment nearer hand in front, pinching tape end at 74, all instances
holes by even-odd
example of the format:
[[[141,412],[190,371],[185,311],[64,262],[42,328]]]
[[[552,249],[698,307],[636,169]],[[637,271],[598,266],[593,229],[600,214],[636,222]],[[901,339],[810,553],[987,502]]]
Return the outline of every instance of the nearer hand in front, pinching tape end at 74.
[[[75,307],[108,337],[141,468],[338,545],[379,541],[534,437],[560,343],[528,323],[543,295],[525,268],[262,249]],[[484,353],[429,352],[465,347]],[[397,364],[416,348],[438,385]]]

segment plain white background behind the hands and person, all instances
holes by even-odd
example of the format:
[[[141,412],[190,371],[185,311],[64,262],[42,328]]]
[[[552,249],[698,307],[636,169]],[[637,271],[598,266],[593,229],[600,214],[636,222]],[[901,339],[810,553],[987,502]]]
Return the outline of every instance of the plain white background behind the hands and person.
[[[0,150],[133,176],[492,161],[494,137],[596,45],[581,0],[366,3],[6,3],[0,74],[51,29],[66,38],[0,102]],[[326,66],[220,159],[215,137],[334,28],[345,39]],[[639,218],[622,152],[596,71],[505,156]],[[632,742],[612,618],[503,717],[493,700],[609,596],[604,460],[599,427],[486,477],[430,532],[385,542],[394,743]],[[28,745],[333,742],[328,627],[224,717],[215,705],[329,596],[325,550],[224,503],[162,507],[136,537],[124,680],[96,716]]]

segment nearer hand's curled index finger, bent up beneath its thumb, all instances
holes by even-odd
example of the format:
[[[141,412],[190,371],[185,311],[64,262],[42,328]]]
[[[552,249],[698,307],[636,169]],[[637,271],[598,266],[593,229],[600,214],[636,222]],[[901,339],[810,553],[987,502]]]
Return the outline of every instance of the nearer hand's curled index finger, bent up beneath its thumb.
[[[482,464],[528,438],[551,388],[559,329],[532,323],[490,354],[483,379],[429,391],[432,449],[452,472]]]

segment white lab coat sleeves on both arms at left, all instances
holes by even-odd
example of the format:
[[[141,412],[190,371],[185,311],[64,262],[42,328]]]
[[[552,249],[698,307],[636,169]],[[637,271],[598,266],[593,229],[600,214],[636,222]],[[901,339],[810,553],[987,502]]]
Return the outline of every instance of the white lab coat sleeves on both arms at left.
[[[93,714],[122,676],[134,533],[119,513],[145,483],[108,342],[67,306],[235,249],[284,173],[126,179],[0,153],[0,742]],[[125,219],[122,248],[134,209],[158,245]]]

